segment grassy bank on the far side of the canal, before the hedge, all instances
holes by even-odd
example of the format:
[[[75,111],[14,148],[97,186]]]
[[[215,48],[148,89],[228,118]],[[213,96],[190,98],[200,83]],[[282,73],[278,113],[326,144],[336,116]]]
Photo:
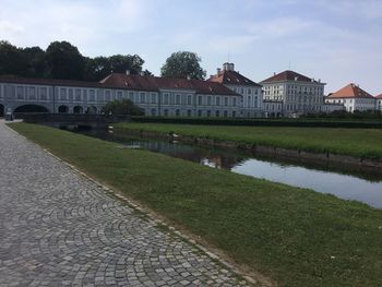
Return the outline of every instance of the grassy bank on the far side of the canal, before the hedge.
[[[167,123],[119,123],[119,129],[175,132],[246,144],[382,158],[382,130],[289,127],[226,127]]]

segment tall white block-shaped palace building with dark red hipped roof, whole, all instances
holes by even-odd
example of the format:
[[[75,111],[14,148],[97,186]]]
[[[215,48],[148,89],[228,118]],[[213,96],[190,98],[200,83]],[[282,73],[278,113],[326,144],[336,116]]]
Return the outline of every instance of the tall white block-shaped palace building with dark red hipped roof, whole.
[[[324,83],[294,71],[284,71],[261,82],[263,100],[283,101],[284,117],[320,112]]]

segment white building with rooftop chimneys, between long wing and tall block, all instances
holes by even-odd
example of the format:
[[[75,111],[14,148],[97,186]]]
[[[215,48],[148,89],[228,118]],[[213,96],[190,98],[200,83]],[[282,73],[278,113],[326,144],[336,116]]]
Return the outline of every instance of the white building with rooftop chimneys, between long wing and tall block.
[[[207,81],[223,84],[242,96],[242,117],[259,118],[263,116],[262,86],[235,71],[234,63],[224,63],[223,70],[217,69],[217,74],[212,75]]]

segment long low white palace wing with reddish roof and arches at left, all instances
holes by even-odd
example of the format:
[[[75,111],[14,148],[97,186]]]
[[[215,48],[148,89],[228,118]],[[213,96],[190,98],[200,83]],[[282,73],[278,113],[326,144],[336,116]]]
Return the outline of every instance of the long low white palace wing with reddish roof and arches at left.
[[[0,112],[99,112],[115,99],[131,99],[146,116],[239,117],[242,96],[200,80],[114,73],[100,82],[0,76]]]

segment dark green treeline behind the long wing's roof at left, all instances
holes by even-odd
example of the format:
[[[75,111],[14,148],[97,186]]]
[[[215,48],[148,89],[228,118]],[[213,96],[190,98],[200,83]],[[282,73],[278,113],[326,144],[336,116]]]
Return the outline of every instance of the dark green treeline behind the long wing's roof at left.
[[[46,50],[40,47],[19,48],[0,41],[0,75],[61,80],[99,81],[111,72],[144,73],[144,60],[138,55],[114,55],[89,58],[68,41],[52,41]]]

